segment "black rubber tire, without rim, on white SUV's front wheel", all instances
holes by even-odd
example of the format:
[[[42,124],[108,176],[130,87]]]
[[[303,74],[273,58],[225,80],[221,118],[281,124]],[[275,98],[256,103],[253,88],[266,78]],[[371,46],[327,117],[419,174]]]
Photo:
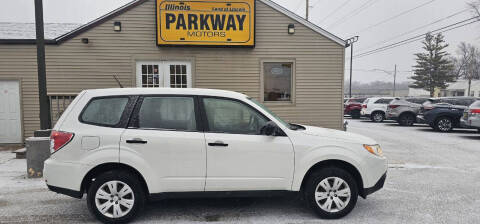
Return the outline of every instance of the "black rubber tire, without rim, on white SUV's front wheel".
[[[335,199],[346,199],[346,197],[341,197],[337,194],[337,191],[334,192],[335,195],[330,195],[330,197],[327,197],[325,199],[320,199],[317,203],[317,199],[315,197],[315,193],[317,190],[319,192],[323,193],[325,190],[323,187],[320,186],[320,183],[324,180],[329,181],[329,178],[340,178],[343,180],[349,187],[350,189],[350,199],[348,200],[348,204],[344,205],[343,209],[338,210],[337,202],[335,200],[332,201],[333,198]],[[343,184],[342,184],[343,185]],[[345,190],[344,188],[343,190]],[[342,191],[343,191],[342,190]],[[328,168],[323,168],[318,171],[314,171],[308,178],[305,189],[304,189],[304,196],[305,196],[305,201],[307,202],[308,206],[320,217],[323,219],[339,219],[342,218],[346,215],[348,215],[353,208],[355,207],[355,204],[357,203],[358,199],[358,188],[357,188],[357,183],[355,182],[355,179],[353,176],[348,173],[347,171],[336,168],[336,167],[328,167]],[[325,193],[326,195],[329,195],[330,193]],[[338,197],[337,197],[338,196]],[[330,199],[329,199],[330,198]],[[326,211],[323,208],[320,207],[319,204],[328,203],[328,200],[330,200],[331,204],[331,209],[337,209],[338,211]],[[324,205],[325,205],[324,204]],[[335,208],[333,208],[335,206]]]

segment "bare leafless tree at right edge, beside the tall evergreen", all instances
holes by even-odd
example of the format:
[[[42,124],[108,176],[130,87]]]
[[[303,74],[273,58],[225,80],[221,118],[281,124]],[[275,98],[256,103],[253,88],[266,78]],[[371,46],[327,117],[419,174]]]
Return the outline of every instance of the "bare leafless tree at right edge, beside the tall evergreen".
[[[472,44],[460,43],[457,53],[458,58],[453,60],[454,72],[457,78],[468,80],[468,95],[472,80],[480,79],[480,49]]]

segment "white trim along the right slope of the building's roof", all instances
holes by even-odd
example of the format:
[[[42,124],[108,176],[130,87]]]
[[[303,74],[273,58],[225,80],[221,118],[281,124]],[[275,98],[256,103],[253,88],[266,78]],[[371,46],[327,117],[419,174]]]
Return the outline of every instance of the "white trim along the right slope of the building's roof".
[[[305,20],[304,18],[300,17],[299,15],[295,14],[294,12],[284,8],[283,6],[273,2],[271,0],[258,0],[258,1],[260,1],[260,2],[270,6],[271,8],[283,13],[284,15],[286,15],[286,16],[290,17],[291,19],[305,25],[306,27],[312,29],[313,31],[327,37],[328,39],[336,42],[337,44],[340,44],[341,46],[345,46],[346,42],[342,38],[337,37],[334,34],[320,28],[319,26]]]

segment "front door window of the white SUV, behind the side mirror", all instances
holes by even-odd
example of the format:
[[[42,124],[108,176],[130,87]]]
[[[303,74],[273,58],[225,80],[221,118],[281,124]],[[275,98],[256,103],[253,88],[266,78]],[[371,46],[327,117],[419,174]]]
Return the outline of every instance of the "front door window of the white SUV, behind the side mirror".
[[[210,132],[260,135],[261,128],[269,121],[252,107],[235,100],[203,98],[203,105]]]

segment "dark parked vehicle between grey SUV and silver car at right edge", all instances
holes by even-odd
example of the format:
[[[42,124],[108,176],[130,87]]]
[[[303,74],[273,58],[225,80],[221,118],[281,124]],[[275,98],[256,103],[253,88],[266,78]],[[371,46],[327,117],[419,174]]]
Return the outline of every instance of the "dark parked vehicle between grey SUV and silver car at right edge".
[[[424,103],[417,121],[428,124],[440,132],[461,128],[460,119],[465,109],[476,100],[478,99],[474,97],[445,97],[429,100]]]

